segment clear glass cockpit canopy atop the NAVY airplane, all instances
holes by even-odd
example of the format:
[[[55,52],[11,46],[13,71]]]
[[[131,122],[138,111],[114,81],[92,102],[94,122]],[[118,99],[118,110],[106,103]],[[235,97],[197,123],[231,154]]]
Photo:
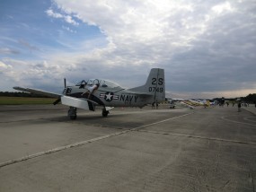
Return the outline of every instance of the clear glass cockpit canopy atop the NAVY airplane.
[[[111,89],[122,89],[121,86],[118,83],[113,83],[109,80],[103,80],[103,79],[89,79],[87,81],[81,81],[77,83],[75,86],[85,86],[86,84],[88,85],[93,85],[93,84],[100,84],[100,87],[103,88],[111,88]]]

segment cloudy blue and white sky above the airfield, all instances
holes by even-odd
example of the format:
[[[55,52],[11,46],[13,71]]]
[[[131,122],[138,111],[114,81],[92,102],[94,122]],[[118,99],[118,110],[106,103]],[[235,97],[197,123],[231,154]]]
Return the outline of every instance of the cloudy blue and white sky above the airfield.
[[[256,93],[255,0],[1,0],[0,92],[122,87],[163,68],[170,98]]]

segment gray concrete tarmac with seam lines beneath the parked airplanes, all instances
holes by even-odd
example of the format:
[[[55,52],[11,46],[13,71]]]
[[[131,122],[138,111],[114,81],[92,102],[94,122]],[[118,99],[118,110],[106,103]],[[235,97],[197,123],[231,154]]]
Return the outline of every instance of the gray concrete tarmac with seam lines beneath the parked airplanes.
[[[256,191],[252,107],[66,110],[1,106],[0,191]]]

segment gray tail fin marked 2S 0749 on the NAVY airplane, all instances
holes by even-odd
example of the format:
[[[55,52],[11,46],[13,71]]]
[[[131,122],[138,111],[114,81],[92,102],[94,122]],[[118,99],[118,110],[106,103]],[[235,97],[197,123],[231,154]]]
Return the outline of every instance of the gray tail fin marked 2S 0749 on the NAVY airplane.
[[[165,100],[164,70],[152,68],[147,77],[146,84],[130,89],[134,92],[146,92],[152,95],[150,102],[161,102]]]

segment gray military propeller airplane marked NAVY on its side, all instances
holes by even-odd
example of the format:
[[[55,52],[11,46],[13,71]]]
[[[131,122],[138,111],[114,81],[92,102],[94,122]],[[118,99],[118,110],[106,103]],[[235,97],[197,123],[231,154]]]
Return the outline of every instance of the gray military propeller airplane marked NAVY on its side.
[[[77,108],[94,111],[95,106],[102,106],[102,117],[107,117],[109,110],[114,107],[143,108],[146,104],[165,100],[164,70],[160,68],[152,68],[146,83],[131,89],[124,89],[117,83],[102,79],[83,80],[75,86],[66,86],[65,80],[62,94],[22,87],[13,89],[57,98],[53,104],[61,101],[63,105],[69,106],[67,116],[71,119],[76,118]]]

